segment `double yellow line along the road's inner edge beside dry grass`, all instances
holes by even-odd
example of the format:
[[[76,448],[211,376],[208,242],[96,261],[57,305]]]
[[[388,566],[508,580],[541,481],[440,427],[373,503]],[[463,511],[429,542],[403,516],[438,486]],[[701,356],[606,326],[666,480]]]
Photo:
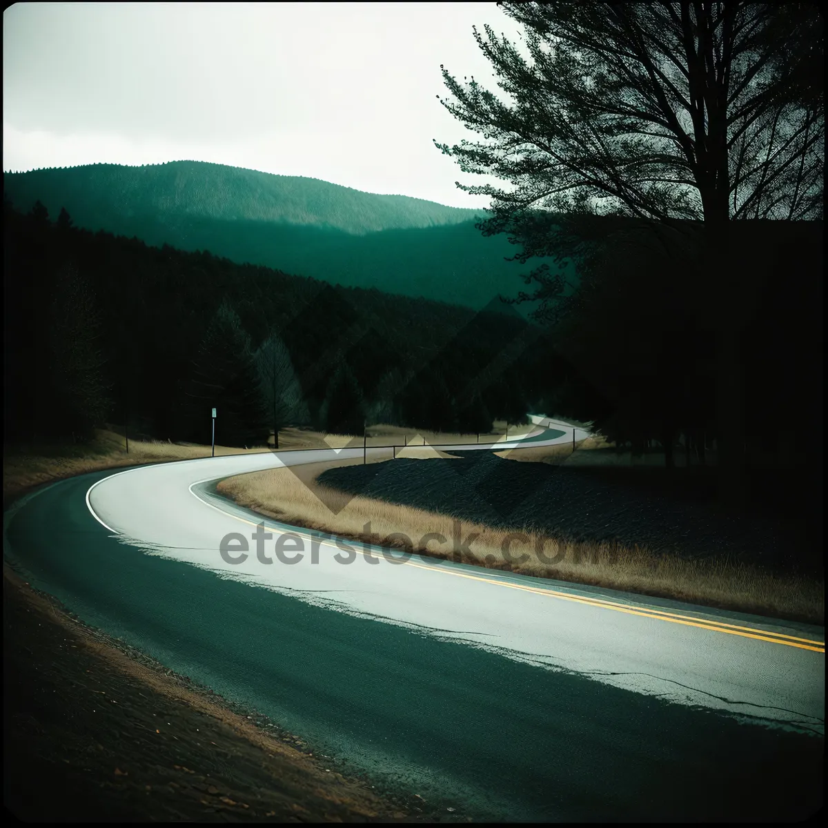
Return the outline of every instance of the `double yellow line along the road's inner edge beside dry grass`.
[[[219,509],[219,511],[224,512],[224,510],[222,509]],[[243,523],[247,523],[249,526],[257,527],[259,525],[258,523],[254,523],[253,521],[247,520],[245,517],[239,517],[238,515],[234,515],[228,512],[224,512],[224,514],[228,515],[228,517],[234,517],[236,520],[239,520]],[[279,527],[265,526],[264,528],[265,531],[270,530],[272,532],[285,532],[284,529]],[[291,529],[290,532],[291,534],[300,535],[302,537],[310,537],[311,541],[313,540],[313,537],[308,535],[306,532],[297,532],[293,529]],[[354,551],[359,552],[360,555],[368,557],[372,555],[377,556],[376,552],[357,549],[355,548],[356,542],[352,543],[354,543]],[[319,546],[325,546],[325,548],[327,549],[335,549],[340,552],[344,551],[342,549],[339,549],[339,546],[331,546],[330,544],[326,543],[320,542]],[[533,592],[535,593],[535,595],[546,595],[546,597],[548,598],[557,598],[564,601],[573,601],[576,604],[587,604],[588,606],[599,607],[602,609],[612,609],[614,610],[614,612],[618,613],[626,613],[628,615],[640,615],[642,618],[655,619],[657,621],[669,621],[670,623],[680,623],[687,627],[696,627],[699,629],[710,629],[716,633],[728,633],[729,635],[738,635],[742,638],[755,638],[758,641],[768,641],[774,644],[785,644],[787,647],[797,647],[798,649],[811,650],[812,652],[825,652],[825,642],[813,641],[811,638],[797,638],[796,636],[787,635],[786,633],[772,633],[768,630],[753,627],[740,627],[738,624],[725,623],[724,621],[694,619],[691,615],[669,613],[662,609],[629,609],[628,606],[625,606],[624,604],[615,603],[614,601],[608,601],[599,598],[585,598],[577,595],[568,595],[565,592],[559,592],[556,590],[544,590],[542,588],[523,584],[510,584],[508,583],[508,581],[496,580],[493,578],[484,578],[481,575],[469,575],[465,572],[455,572],[453,570],[437,569],[436,566],[418,564],[414,561],[399,560],[398,562],[405,564],[406,566],[415,566],[417,569],[430,570],[431,572],[440,572],[443,575],[455,575],[458,578],[469,578],[469,580],[482,580],[487,584],[508,587],[510,590],[523,590],[524,592]]]

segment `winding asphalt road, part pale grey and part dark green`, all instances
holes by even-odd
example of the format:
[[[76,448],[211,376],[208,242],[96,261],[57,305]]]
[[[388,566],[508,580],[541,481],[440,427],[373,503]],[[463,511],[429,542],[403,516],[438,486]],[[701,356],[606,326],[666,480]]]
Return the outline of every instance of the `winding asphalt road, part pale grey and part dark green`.
[[[526,439],[572,429],[539,421]],[[445,449],[508,445],[525,443]],[[452,819],[766,821],[821,806],[822,628],[401,562],[214,492],[361,452],[85,474],[14,503],[4,554],[87,623]]]

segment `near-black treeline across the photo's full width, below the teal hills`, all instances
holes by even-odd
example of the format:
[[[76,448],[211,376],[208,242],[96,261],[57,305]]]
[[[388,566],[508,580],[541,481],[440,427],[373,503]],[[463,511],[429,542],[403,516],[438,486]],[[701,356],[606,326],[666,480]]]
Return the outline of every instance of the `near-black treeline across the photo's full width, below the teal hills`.
[[[7,440],[89,436],[129,421],[161,439],[264,442],[274,426],[363,422],[488,431],[527,412],[594,421],[619,445],[707,459],[717,437],[716,297],[686,252],[637,232],[566,247],[578,282],[541,302],[546,332],[481,312],[331,286],[209,253],[76,229],[4,201]],[[753,456],[821,450],[819,222],[735,223],[744,420]],[[604,226],[606,225],[606,226]],[[589,235],[589,234],[587,234]],[[580,238],[580,237],[579,237]],[[586,252],[585,252],[586,251]],[[667,278],[665,276],[668,275]],[[539,291],[543,295],[543,291]],[[554,312],[553,312],[554,311]],[[802,455],[802,456],[801,456]]]

